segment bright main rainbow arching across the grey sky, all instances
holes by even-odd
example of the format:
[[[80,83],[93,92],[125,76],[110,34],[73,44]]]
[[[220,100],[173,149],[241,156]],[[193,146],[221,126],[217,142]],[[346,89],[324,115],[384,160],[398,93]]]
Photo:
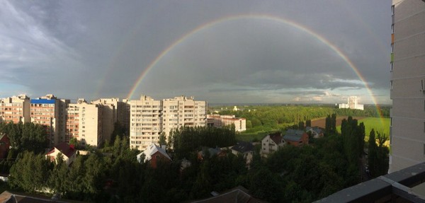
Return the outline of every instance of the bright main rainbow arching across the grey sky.
[[[145,78],[145,76],[149,73],[149,71],[159,62],[159,60],[162,59],[162,57],[164,57],[166,54],[171,52],[171,50],[173,50],[174,47],[176,47],[177,45],[181,44],[181,42],[188,40],[188,38],[190,38],[191,36],[200,32],[201,30],[211,28],[215,25],[219,25],[220,23],[225,23],[225,22],[229,22],[229,21],[237,21],[237,20],[242,20],[242,19],[245,19],[245,20],[246,19],[248,19],[248,20],[249,19],[252,19],[252,20],[255,19],[255,20],[273,21],[273,22],[283,23],[285,25],[290,25],[293,28],[297,28],[298,30],[302,30],[303,32],[312,35],[315,39],[319,40],[324,45],[327,45],[327,47],[329,47],[336,54],[338,54],[339,57],[341,57],[341,59],[343,59],[344,62],[346,62],[346,64],[348,64],[348,66],[350,66],[350,68],[354,71],[354,73],[358,76],[358,78],[361,79],[361,81],[364,83],[364,86],[367,89],[370,97],[372,98],[373,103],[377,107],[378,115],[380,115],[380,117],[382,118],[382,112],[380,110],[378,103],[376,102],[375,97],[373,96],[372,91],[370,91],[370,87],[369,87],[368,83],[365,81],[364,77],[361,75],[360,71],[358,71],[356,66],[354,66],[353,62],[351,62],[351,60],[348,59],[348,57],[346,57],[346,55],[343,52],[341,52],[341,50],[339,50],[338,47],[333,45],[331,42],[329,42],[327,39],[325,39],[324,37],[322,37],[318,33],[315,33],[310,28],[306,28],[304,25],[300,25],[299,23],[295,23],[294,21],[290,21],[288,19],[278,18],[276,16],[260,15],[260,14],[227,16],[227,17],[224,17],[224,18],[219,18],[219,19],[216,19],[215,21],[210,21],[209,23],[205,23],[203,25],[200,25],[197,28],[191,30],[189,33],[186,33],[186,35],[183,35],[182,37],[180,37],[178,40],[176,40],[171,45],[169,45],[169,47],[166,47],[165,50],[163,50],[152,62],[150,62],[150,64],[147,66],[147,68],[144,69],[142,71],[142,73],[140,74],[140,76],[137,78],[136,82],[134,83],[134,85],[130,89],[130,92],[128,93],[127,98],[128,99],[132,98],[132,95],[135,93],[137,87],[140,85],[140,82]]]

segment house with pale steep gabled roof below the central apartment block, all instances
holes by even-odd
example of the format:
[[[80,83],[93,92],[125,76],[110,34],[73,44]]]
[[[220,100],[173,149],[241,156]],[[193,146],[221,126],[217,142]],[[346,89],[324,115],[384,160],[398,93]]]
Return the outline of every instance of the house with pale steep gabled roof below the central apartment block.
[[[168,155],[168,153],[166,153],[165,149],[157,146],[154,143],[148,146],[145,151],[142,151],[142,153],[137,154],[137,161],[139,161],[139,163],[149,162],[152,168],[157,168],[157,163],[159,160],[171,162],[171,157]]]

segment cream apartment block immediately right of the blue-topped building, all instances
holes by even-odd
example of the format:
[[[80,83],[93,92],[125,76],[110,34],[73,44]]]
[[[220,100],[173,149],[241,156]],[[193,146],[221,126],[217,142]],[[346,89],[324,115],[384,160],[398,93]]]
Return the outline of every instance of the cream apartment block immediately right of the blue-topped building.
[[[99,146],[103,143],[103,110],[100,104],[89,104],[84,99],[67,105],[66,142],[76,138],[83,146]],[[111,117],[112,119],[112,117]],[[107,128],[108,129],[108,128]]]

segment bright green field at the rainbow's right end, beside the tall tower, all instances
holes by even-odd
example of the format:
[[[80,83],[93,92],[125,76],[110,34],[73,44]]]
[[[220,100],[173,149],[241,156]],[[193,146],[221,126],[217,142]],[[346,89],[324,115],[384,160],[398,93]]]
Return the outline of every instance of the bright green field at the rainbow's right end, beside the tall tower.
[[[365,124],[365,141],[369,139],[370,130],[372,129],[390,137],[390,118],[382,118],[381,121],[379,117],[365,117],[362,120],[358,120],[358,123],[361,122]],[[337,126],[336,129],[341,133],[341,126]]]

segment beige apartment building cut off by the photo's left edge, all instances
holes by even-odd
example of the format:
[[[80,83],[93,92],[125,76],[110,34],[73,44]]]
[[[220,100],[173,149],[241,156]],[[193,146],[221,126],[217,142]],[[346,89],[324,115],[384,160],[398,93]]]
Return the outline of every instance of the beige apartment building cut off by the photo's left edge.
[[[30,121],[30,98],[26,95],[0,99],[0,122]]]

